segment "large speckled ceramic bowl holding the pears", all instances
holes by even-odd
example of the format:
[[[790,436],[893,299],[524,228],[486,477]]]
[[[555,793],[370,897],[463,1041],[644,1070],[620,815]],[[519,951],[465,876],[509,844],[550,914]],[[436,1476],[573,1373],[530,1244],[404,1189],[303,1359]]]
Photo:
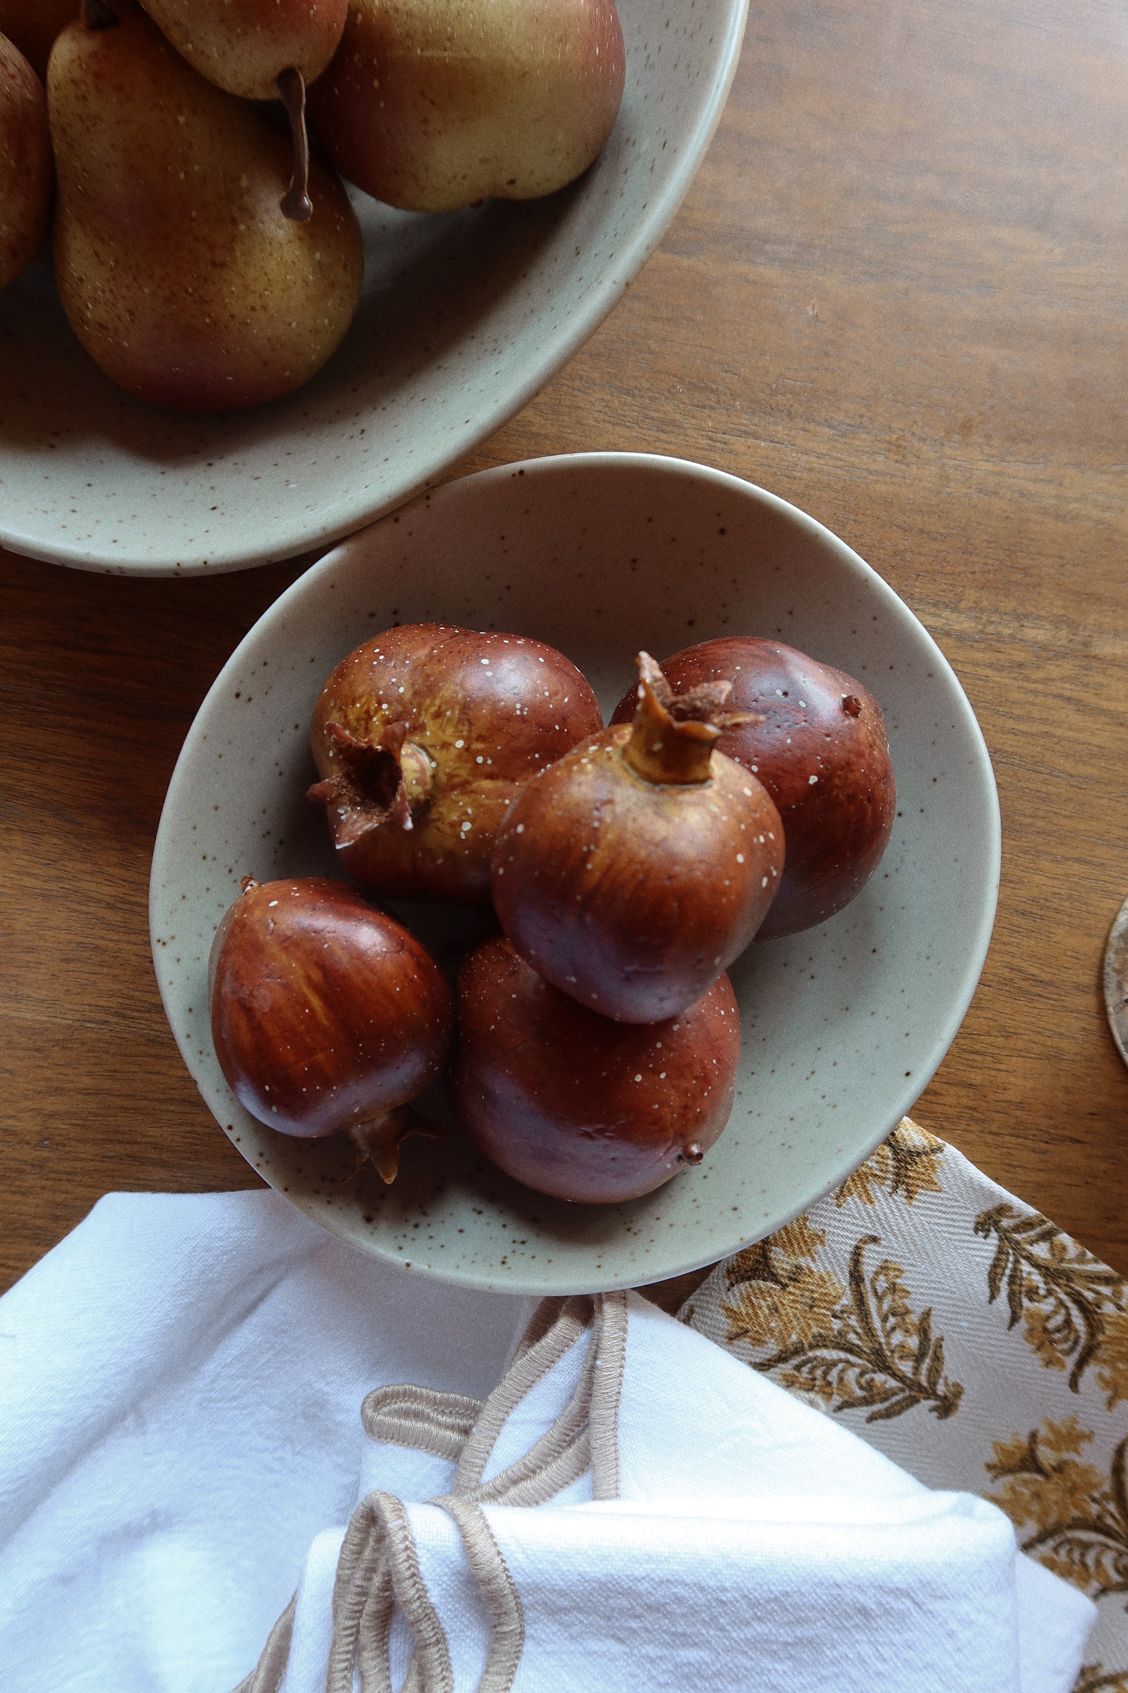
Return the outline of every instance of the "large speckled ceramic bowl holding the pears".
[[[619,15],[622,108],[582,181],[450,215],[353,195],[360,308],[286,400],[227,416],[144,405],[79,347],[49,257],[0,293],[0,543],[90,571],[237,571],[441,479],[611,312],[724,108],[747,0],[619,0]]]

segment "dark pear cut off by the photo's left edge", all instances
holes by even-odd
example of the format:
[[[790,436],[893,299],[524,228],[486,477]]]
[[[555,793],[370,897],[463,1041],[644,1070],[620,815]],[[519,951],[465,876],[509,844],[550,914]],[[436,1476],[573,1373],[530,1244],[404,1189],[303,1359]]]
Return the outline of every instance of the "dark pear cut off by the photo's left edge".
[[[52,190],[42,83],[0,36],[0,288],[22,276],[47,239]]]

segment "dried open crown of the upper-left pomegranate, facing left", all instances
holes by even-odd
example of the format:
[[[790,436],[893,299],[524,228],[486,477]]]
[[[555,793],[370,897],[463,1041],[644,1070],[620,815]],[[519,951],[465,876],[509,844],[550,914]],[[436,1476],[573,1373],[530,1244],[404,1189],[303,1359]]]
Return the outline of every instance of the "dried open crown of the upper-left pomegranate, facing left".
[[[342,723],[328,725],[337,770],[315,782],[306,799],[326,808],[338,850],[384,823],[413,828],[413,818],[428,804],[433,765],[406,736],[406,723],[389,723],[375,742],[357,740]]]

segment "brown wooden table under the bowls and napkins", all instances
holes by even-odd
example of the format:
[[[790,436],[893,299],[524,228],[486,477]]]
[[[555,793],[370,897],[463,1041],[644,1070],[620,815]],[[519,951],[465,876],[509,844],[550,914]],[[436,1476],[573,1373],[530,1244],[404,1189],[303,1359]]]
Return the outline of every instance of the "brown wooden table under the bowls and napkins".
[[[661,249],[458,467],[720,466],[918,613],[994,760],[1003,887],[915,1116],[1125,1275],[1099,968],[1128,896],[1126,76],[1118,0],[753,7]],[[129,581],[0,555],[0,1285],[110,1188],[254,1185],[166,1026],[145,897],[193,713],[303,562]]]

